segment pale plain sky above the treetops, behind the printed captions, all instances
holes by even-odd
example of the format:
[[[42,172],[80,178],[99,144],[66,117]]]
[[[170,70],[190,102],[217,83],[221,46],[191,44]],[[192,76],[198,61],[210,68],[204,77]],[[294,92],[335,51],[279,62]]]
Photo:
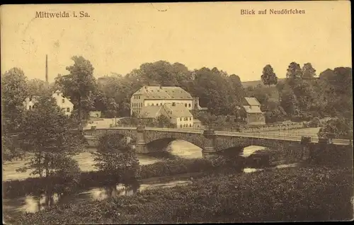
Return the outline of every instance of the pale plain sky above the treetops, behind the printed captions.
[[[270,9],[304,14],[270,15]],[[241,9],[266,15],[241,15]],[[71,57],[93,64],[94,76],[127,74],[146,62],[217,67],[241,81],[259,80],[266,64],[279,78],[290,62],[317,74],[351,67],[349,1],[72,4],[1,6],[1,74],[19,67],[28,79],[67,74]],[[35,18],[36,11],[69,18]],[[74,18],[73,12],[76,12]],[[79,17],[84,11],[90,17]]]

